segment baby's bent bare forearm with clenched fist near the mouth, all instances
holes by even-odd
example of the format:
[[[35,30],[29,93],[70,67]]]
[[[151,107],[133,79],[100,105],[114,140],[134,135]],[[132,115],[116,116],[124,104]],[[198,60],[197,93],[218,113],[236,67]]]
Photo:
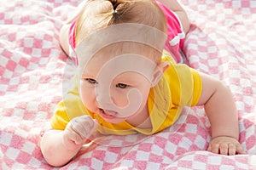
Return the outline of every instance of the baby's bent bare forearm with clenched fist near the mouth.
[[[76,156],[96,126],[90,116],[79,116],[68,122],[64,131],[47,131],[40,143],[44,159],[54,167],[65,165]]]

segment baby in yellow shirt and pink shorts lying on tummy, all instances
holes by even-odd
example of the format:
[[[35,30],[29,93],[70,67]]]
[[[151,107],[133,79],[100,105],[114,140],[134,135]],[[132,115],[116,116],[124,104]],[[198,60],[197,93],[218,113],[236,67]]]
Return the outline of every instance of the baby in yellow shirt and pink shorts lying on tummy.
[[[50,165],[70,161],[95,130],[154,134],[195,105],[204,105],[211,123],[209,151],[245,153],[229,89],[177,65],[189,20],[175,0],[88,0],[82,7],[61,29],[61,47],[75,52],[79,69],[41,140]]]

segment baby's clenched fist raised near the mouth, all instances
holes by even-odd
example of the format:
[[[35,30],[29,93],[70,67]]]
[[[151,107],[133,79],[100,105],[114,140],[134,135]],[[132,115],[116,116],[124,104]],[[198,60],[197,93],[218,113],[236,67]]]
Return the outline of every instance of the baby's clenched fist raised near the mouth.
[[[67,123],[63,133],[63,143],[70,150],[77,150],[82,147],[96,129],[97,123],[90,116],[78,116]]]

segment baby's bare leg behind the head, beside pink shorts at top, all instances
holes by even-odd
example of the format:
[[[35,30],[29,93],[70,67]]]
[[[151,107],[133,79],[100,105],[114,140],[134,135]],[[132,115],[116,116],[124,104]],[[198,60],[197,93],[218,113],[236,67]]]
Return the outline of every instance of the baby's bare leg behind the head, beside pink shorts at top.
[[[183,25],[183,31],[187,33],[189,31],[189,17],[182,6],[177,2],[177,0],[158,0],[160,3],[163,3],[167,8],[170,8],[175,12]]]

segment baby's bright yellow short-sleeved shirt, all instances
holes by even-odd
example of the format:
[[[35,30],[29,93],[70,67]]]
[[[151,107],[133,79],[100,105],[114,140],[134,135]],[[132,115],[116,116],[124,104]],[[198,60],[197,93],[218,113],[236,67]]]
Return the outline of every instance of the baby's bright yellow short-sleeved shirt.
[[[160,82],[151,88],[148,94],[148,113],[152,128],[142,129],[131,126],[128,122],[113,124],[106,122],[96,113],[84,107],[79,98],[77,80],[67,96],[57,105],[55,114],[51,119],[54,129],[64,130],[67,123],[76,116],[90,115],[97,119],[97,130],[103,134],[132,134],[158,133],[166,127],[172,126],[180,116],[184,106],[193,106],[201,97],[201,77],[197,71],[188,65],[177,65],[172,56],[164,51],[162,61],[170,62]]]

